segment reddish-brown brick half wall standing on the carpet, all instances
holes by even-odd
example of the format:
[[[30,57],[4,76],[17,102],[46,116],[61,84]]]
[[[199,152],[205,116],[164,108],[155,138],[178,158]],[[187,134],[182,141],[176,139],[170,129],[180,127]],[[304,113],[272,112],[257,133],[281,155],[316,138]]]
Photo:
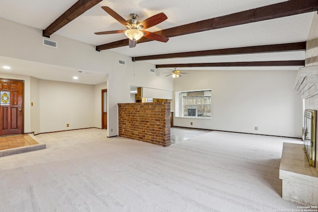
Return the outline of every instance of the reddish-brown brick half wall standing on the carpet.
[[[119,136],[170,145],[170,102],[118,104]]]

